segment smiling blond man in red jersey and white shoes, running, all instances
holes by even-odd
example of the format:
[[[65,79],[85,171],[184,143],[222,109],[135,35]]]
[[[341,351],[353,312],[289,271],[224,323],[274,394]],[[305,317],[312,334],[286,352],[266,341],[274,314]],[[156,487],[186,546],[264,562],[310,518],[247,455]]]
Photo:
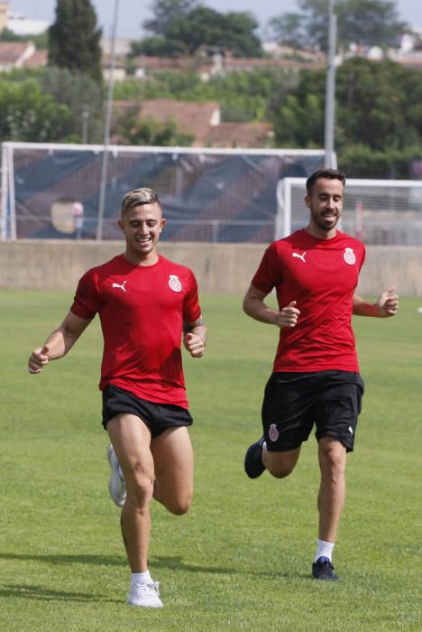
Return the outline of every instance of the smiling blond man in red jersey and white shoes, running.
[[[98,313],[104,337],[99,388],[103,425],[111,444],[110,494],[122,506],[124,546],[132,571],[127,601],[160,608],[148,550],[151,499],[172,514],[188,511],[193,494],[193,453],[182,371],[181,341],[192,358],[206,345],[197,282],[188,267],[157,251],[166,225],[151,189],[124,195],[118,221],[124,254],[87,271],[68,315],[32,351],[29,372],[62,358]]]

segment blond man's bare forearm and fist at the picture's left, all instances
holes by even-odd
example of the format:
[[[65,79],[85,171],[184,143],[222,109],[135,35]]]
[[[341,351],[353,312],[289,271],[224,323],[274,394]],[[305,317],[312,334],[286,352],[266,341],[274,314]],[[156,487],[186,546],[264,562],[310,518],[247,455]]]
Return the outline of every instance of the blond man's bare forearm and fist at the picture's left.
[[[42,368],[50,360],[56,360],[65,356],[90,322],[90,320],[79,318],[69,311],[60,327],[51,331],[50,336],[42,347],[32,351],[28,360],[29,372],[41,373]]]

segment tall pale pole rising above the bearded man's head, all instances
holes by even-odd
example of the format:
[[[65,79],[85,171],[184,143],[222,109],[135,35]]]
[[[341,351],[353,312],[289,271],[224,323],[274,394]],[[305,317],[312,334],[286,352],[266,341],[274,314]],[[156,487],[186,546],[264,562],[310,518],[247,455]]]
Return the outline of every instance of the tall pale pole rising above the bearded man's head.
[[[328,0],[328,51],[326,54],[326,134],[325,166],[335,167],[335,45],[337,41],[337,16],[335,0]]]

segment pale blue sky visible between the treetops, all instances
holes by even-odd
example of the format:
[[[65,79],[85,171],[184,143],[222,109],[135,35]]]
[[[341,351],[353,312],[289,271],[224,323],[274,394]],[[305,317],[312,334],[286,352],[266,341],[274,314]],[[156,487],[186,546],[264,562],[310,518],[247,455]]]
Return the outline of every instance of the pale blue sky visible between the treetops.
[[[106,36],[112,34],[115,3],[118,3],[117,37],[140,39],[142,22],[151,17],[149,0],[91,0],[96,9],[98,23]],[[24,14],[25,17],[53,22],[56,0],[9,0],[11,12]],[[202,4],[220,13],[228,11],[249,11],[255,15],[260,28],[271,17],[283,13],[297,13],[296,0],[202,0]],[[396,0],[399,19],[415,28],[422,28],[421,0]]]

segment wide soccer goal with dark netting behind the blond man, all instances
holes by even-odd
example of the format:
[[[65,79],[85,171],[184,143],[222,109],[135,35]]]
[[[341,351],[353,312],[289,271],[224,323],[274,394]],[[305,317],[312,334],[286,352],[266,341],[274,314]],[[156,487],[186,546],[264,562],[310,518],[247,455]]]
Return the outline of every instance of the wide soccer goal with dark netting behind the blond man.
[[[1,238],[121,239],[116,219],[124,193],[150,187],[168,220],[163,241],[269,243],[277,183],[305,180],[325,157],[323,150],[300,149],[112,145],[107,151],[98,231],[103,145],[4,143]]]

